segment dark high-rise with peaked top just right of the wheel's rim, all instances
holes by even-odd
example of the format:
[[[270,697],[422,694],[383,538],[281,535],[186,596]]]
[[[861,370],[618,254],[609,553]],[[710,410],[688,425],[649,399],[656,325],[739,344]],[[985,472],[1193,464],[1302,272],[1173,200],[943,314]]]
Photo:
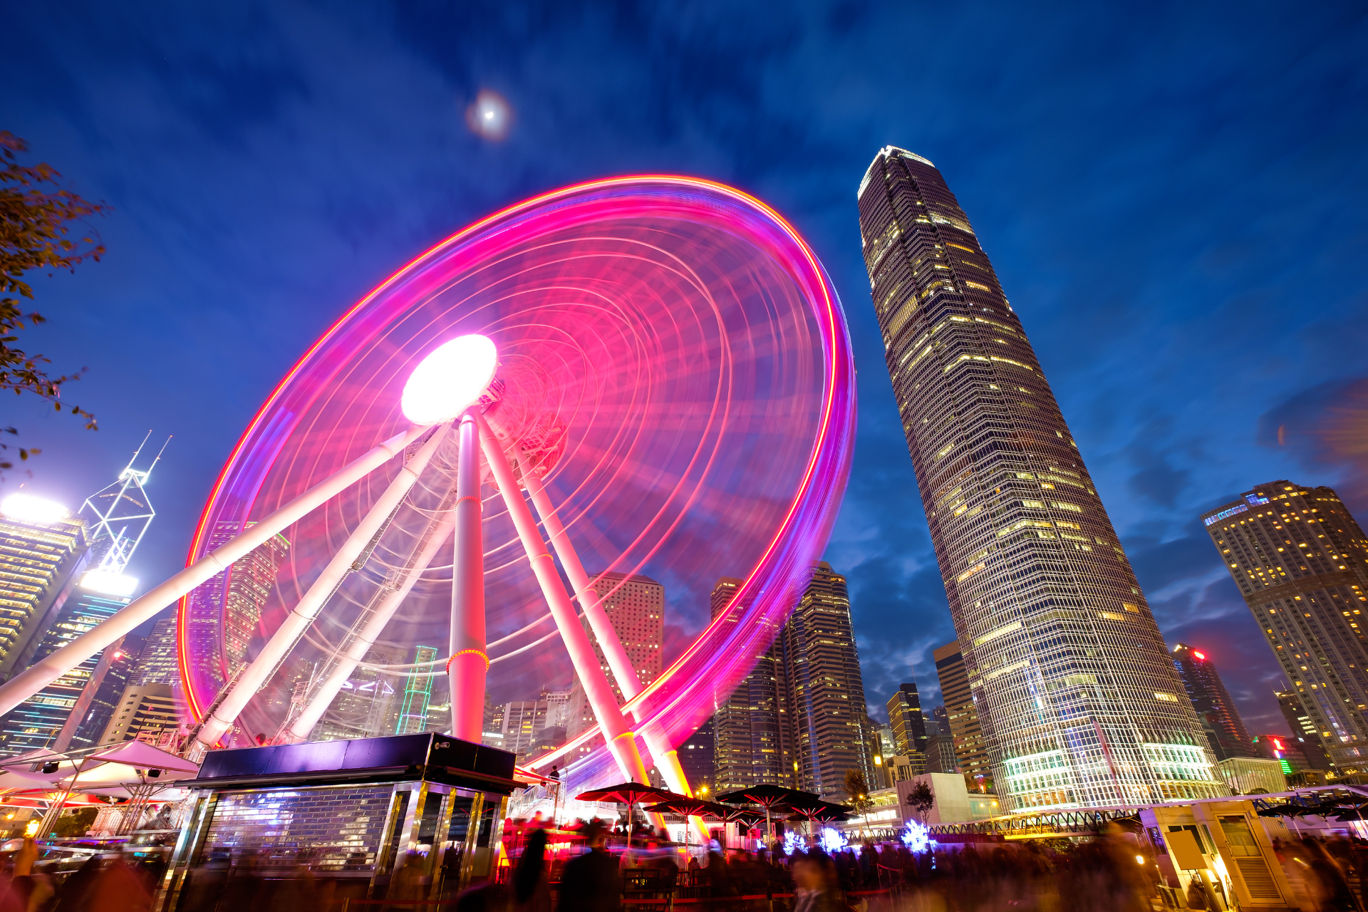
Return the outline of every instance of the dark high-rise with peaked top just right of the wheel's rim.
[[[876,781],[845,577],[825,561],[781,632],[788,674],[795,785],[824,797],[844,796],[845,771]]]

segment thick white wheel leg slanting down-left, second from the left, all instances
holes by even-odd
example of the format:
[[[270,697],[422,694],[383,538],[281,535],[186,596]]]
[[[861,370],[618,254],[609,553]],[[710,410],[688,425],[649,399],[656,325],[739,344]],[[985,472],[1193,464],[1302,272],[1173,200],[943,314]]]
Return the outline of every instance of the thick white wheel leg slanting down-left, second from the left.
[[[399,469],[399,473],[394,476],[394,480],[390,481],[384,492],[376,498],[375,505],[361,518],[361,522],[347,536],[347,540],[342,543],[337,554],[332,555],[328,565],[323,567],[323,573],[313,581],[309,591],[304,593],[304,598],[294,606],[294,610],[286,615],[285,622],[271,634],[271,639],[257,658],[238,675],[233,690],[213,711],[213,715],[200,726],[200,733],[194,738],[198,744],[212,748],[223,733],[233,726],[238,714],[248,704],[248,700],[267,682],[267,678],[275,673],[298,639],[313,623],[313,619],[324,603],[327,603],[334,589],[337,589],[338,584],[350,572],[352,563],[361,554],[361,550],[375,537],[375,533],[380,531],[380,526],[394,513],[394,509],[408,496],[413,483],[419,480],[419,474],[432,461],[432,455],[445,436],[446,425],[442,425],[423,444],[423,448],[413,455],[413,459]]]

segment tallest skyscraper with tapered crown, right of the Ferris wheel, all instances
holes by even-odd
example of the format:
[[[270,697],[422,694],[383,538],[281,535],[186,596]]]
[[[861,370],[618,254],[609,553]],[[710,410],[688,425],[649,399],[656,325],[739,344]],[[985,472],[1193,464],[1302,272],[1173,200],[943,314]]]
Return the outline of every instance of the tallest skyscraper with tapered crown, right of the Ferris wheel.
[[[859,185],[874,312],[997,793],[1011,809],[1224,793],[1021,321],[940,171]]]

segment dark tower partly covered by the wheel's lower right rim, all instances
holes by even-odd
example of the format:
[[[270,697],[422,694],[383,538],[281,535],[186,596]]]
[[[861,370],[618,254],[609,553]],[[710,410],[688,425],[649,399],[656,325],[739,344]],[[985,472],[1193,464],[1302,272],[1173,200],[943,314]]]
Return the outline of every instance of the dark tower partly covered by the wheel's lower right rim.
[[[728,608],[735,618],[747,607],[732,604],[741,582],[735,577],[721,577],[713,587],[714,619]],[[715,706],[711,719],[713,788],[732,792],[766,782],[792,786],[793,756],[782,645],[776,641],[765,649],[751,673]],[[687,748],[679,751],[681,763],[687,753]]]

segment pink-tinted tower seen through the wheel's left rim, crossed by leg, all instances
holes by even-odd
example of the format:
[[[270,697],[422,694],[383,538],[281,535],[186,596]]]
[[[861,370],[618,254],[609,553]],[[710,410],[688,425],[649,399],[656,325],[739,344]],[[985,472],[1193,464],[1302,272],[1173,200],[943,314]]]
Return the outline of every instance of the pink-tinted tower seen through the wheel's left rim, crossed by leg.
[[[254,524],[219,522],[209,533],[205,551],[227,544],[252,525]],[[261,622],[261,608],[271,598],[275,574],[289,550],[290,543],[283,535],[271,536],[231,567],[190,592],[190,599],[209,608],[192,613],[190,654],[197,656],[204,671],[220,685],[245,662],[248,644]],[[215,614],[222,617],[222,636]]]

